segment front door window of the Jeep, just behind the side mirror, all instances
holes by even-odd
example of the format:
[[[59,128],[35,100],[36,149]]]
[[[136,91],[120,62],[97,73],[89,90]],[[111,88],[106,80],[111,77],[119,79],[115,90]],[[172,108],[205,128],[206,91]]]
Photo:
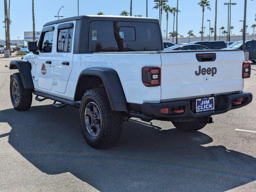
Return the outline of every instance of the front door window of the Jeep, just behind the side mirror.
[[[51,52],[53,44],[53,30],[42,33],[42,38],[39,46],[41,52]]]

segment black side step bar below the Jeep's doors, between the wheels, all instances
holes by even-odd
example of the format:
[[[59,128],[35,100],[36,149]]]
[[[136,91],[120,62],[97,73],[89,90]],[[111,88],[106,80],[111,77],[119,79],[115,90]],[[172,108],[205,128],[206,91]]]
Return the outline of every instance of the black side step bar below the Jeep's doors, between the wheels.
[[[72,101],[72,100],[60,98],[60,97],[57,97],[57,96],[53,96],[53,95],[49,95],[47,93],[42,93],[42,92],[37,92],[37,91],[33,91],[33,94],[36,95],[35,100],[40,101],[40,102],[44,101],[46,99],[54,100],[53,106],[55,106],[57,108],[62,108],[62,107],[65,107],[67,105],[78,107],[78,108],[80,107],[80,102],[79,101]],[[39,96],[41,96],[43,98],[38,98]],[[56,102],[60,102],[60,104],[57,104]]]

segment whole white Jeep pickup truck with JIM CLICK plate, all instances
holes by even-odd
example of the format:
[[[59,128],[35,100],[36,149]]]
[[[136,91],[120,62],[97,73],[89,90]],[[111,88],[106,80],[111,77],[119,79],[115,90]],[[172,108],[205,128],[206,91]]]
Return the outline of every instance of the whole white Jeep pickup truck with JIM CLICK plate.
[[[10,62],[16,110],[35,100],[80,108],[82,133],[94,148],[115,144],[131,117],[170,121],[197,131],[215,114],[252,101],[243,92],[250,63],[237,50],[163,51],[152,18],[76,16],[48,22],[33,54]]]

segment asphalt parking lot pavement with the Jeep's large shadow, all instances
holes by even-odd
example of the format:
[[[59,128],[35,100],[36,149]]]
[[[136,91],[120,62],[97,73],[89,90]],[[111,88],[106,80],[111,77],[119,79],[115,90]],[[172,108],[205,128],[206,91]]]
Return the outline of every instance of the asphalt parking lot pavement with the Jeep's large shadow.
[[[18,112],[9,96],[13,58],[0,58],[0,191],[256,191],[256,65],[250,105],[213,116],[195,133],[132,119],[112,148],[90,148],[78,108],[33,100]]]

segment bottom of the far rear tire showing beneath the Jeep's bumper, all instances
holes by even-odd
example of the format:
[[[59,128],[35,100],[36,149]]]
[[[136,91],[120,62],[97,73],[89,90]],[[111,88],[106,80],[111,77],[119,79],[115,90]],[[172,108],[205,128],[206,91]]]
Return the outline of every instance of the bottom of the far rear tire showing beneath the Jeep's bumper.
[[[203,129],[207,123],[199,122],[199,120],[184,121],[184,122],[172,122],[172,124],[181,131],[184,132],[195,132]]]

